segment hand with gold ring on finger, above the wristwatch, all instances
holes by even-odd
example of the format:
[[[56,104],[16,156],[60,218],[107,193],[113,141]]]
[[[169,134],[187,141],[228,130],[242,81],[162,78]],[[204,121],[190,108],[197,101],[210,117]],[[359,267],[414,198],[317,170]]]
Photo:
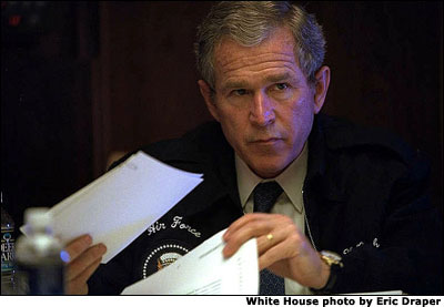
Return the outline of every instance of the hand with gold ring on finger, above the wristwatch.
[[[272,238],[268,235],[272,234]],[[231,257],[246,241],[258,239],[259,269],[320,289],[325,286],[330,267],[321,260],[309,239],[293,221],[281,214],[250,213],[230,225],[223,239],[224,257]]]

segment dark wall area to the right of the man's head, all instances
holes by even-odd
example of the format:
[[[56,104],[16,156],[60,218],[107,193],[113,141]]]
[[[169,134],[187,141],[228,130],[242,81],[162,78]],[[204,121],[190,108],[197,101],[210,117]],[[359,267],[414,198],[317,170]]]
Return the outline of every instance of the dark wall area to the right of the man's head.
[[[306,2],[327,39],[324,112],[393,131],[428,156],[443,204],[442,2]]]

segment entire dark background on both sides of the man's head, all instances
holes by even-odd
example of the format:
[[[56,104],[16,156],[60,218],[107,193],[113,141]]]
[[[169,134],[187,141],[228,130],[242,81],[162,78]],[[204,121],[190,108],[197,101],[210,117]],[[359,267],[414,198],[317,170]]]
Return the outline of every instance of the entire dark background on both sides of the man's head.
[[[300,3],[327,40],[324,112],[425,152],[442,207],[442,3]],[[1,2],[1,188],[17,224],[122,153],[211,119],[192,53],[211,4]]]

